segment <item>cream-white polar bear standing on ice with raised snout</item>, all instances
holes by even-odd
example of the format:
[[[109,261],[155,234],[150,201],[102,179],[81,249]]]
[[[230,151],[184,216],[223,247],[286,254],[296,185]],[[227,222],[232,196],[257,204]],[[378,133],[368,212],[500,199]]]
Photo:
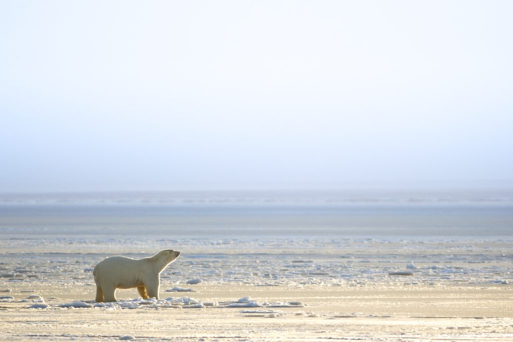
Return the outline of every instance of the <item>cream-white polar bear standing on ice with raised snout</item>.
[[[160,273],[179,255],[180,252],[165,249],[139,260],[121,255],[106,257],[93,270],[96,303],[117,301],[116,289],[134,287],[145,299],[159,299]]]

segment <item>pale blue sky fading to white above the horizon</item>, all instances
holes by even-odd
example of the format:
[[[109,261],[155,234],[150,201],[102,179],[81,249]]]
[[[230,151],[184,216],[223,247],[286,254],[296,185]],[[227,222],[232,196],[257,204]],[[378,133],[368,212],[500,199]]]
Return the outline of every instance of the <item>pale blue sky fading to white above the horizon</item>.
[[[0,0],[0,192],[512,187],[512,16]]]

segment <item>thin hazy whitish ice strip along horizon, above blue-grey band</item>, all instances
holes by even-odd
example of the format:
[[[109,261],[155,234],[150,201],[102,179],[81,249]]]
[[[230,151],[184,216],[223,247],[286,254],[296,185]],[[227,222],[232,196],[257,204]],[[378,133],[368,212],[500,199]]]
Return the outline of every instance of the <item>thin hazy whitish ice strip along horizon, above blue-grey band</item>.
[[[340,204],[510,204],[508,191],[159,191],[2,194],[3,205],[277,206]]]

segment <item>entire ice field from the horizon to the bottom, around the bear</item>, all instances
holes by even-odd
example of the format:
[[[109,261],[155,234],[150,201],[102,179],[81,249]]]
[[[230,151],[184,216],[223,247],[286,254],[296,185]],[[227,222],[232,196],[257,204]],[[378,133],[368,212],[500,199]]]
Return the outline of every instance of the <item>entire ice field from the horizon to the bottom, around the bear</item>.
[[[513,339],[507,193],[0,197],[2,340]],[[95,303],[109,255],[181,252]]]

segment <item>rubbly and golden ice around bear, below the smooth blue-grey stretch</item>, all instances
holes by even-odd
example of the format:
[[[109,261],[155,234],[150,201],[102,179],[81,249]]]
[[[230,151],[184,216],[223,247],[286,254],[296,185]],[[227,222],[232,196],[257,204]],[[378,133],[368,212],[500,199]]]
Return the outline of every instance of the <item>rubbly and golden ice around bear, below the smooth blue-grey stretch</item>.
[[[513,339],[506,239],[2,243],[0,339]],[[139,258],[160,248],[182,251],[161,274],[161,299],[132,289],[117,290],[117,303],[94,303],[101,251]]]

